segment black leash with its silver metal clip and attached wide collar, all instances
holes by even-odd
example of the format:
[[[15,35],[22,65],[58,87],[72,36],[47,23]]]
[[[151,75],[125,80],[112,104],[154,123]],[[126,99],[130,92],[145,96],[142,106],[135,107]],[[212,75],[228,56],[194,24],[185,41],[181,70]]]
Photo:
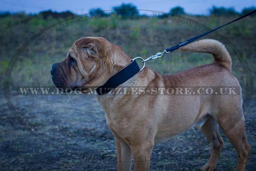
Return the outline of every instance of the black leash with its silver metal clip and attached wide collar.
[[[253,11],[249,12],[248,14],[245,14],[245,15],[237,18],[237,19],[234,19],[234,20],[232,20],[231,22],[229,22],[229,23],[227,23],[225,25],[222,25],[220,27],[217,27],[215,29],[207,31],[207,32],[205,32],[203,34],[200,34],[198,36],[190,38],[190,39],[188,39],[186,41],[183,41],[183,42],[181,42],[180,44],[178,44],[178,45],[176,45],[174,47],[168,48],[168,49],[164,50],[163,52],[158,52],[157,54],[152,55],[152,56],[150,56],[150,57],[148,57],[146,59],[143,59],[142,57],[136,57],[136,58],[131,59],[132,63],[129,66],[127,66],[124,69],[122,69],[120,72],[118,72],[117,74],[112,76],[108,81],[106,81],[106,83],[104,83],[103,86],[101,86],[101,87],[96,89],[97,94],[98,95],[106,94],[106,93],[110,92],[112,89],[114,89],[117,86],[119,86],[120,84],[122,84],[125,81],[129,80],[130,78],[132,78],[135,74],[137,74],[140,70],[142,70],[145,67],[145,62],[146,61],[159,58],[159,57],[161,57],[165,53],[173,52],[173,51],[179,49],[180,47],[189,44],[192,41],[195,41],[195,40],[197,40],[197,39],[199,39],[199,38],[201,38],[201,37],[203,37],[203,36],[205,36],[205,35],[207,35],[207,34],[209,34],[211,32],[214,32],[214,31],[216,31],[216,30],[218,30],[218,29],[220,29],[220,28],[222,28],[224,26],[227,26],[227,25],[229,25],[229,24],[231,24],[233,22],[236,22],[236,21],[238,21],[238,20],[240,20],[240,19],[242,19],[244,17],[247,17],[247,16],[249,16],[249,15],[255,13],[255,12],[256,12],[256,10],[253,10]],[[138,63],[136,62],[136,59],[138,59],[138,58],[141,59],[142,62],[143,62],[143,67],[141,69],[139,68]]]

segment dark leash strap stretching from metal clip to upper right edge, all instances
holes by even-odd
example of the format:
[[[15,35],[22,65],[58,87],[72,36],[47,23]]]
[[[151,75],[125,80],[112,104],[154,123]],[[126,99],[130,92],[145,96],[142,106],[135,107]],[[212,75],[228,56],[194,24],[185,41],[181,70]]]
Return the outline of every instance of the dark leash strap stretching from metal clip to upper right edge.
[[[218,29],[220,29],[220,28],[222,28],[222,27],[224,27],[224,26],[227,26],[227,25],[229,25],[229,24],[231,24],[231,23],[234,23],[234,22],[236,22],[236,21],[238,21],[238,20],[240,20],[240,19],[242,19],[242,18],[244,18],[244,17],[247,17],[247,16],[249,16],[249,15],[255,13],[255,12],[256,12],[256,10],[253,10],[253,11],[249,12],[248,14],[245,14],[245,15],[243,15],[243,16],[237,18],[237,19],[234,19],[234,20],[232,20],[231,22],[229,22],[229,23],[227,23],[227,24],[225,24],[225,25],[222,25],[222,26],[220,26],[220,27],[217,27],[217,28],[215,28],[215,29],[212,29],[212,30],[210,30],[210,31],[207,31],[207,32],[205,32],[205,33],[203,33],[203,34],[200,34],[200,35],[198,35],[198,36],[196,36],[196,37],[193,37],[193,38],[190,38],[190,39],[188,39],[188,40],[186,40],[186,41],[183,41],[183,42],[181,42],[179,45],[176,45],[176,46],[174,46],[174,47],[172,47],[172,48],[166,49],[165,52],[166,52],[166,53],[170,53],[170,52],[172,52],[172,51],[174,51],[174,50],[176,50],[176,49],[179,49],[179,48],[182,47],[182,46],[185,46],[185,45],[189,44],[189,43],[192,42],[192,41],[195,41],[195,40],[197,40],[197,39],[199,39],[199,38],[201,38],[201,37],[203,37],[203,36],[205,36],[205,35],[207,35],[207,34],[209,34],[209,33],[211,33],[211,32],[214,32],[214,31],[216,31],[216,30],[218,30]]]

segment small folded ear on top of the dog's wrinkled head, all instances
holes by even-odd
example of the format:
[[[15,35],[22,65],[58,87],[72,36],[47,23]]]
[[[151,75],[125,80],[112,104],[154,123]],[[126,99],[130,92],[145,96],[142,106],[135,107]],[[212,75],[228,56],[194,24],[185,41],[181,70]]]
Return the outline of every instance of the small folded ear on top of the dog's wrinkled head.
[[[92,37],[82,37],[75,41],[75,46],[78,48],[89,48],[94,53],[99,51],[97,41]]]

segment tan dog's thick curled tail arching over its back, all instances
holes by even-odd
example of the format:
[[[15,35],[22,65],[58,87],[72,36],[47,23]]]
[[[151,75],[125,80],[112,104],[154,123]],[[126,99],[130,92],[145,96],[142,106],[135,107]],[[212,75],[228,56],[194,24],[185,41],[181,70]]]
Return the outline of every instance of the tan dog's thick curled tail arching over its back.
[[[231,72],[232,61],[225,46],[214,39],[203,39],[179,48],[181,51],[202,52],[214,55],[215,62]]]

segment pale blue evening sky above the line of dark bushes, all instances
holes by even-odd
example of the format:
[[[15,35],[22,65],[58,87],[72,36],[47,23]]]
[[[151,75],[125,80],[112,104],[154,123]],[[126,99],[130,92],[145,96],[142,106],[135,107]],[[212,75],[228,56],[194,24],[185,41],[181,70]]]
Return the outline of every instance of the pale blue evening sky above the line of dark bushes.
[[[117,0],[0,0],[0,11],[10,12],[26,12],[26,13],[38,13],[40,11],[49,10],[52,11],[67,11],[70,10],[76,14],[87,14],[92,8],[101,8],[103,10],[111,10],[115,6],[119,6],[122,3],[132,3],[138,9],[152,10],[160,12],[169,12],[169,10],[176,6],[184,8],[188,14],[203,14],[207,15],[209,8],[212,6],[217,7],[233,7],[238,12],[245,7],[255,6],[255,0],[138,0],[138,1],[117,1]],[[152,12],[140,11],[140,14],[152,14]]]

